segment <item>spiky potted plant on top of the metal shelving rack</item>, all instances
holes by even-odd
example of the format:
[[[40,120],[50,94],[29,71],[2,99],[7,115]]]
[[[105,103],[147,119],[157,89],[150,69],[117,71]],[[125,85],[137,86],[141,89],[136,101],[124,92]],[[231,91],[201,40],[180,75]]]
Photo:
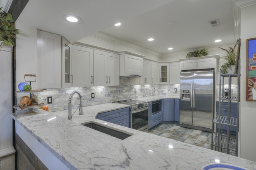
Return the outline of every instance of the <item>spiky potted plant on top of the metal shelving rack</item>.
[[[223,74],[233,74],[235,71],[235,65],[236,65],[236,45],[238,42],[236,42],[236,44],[234,45],[234,47],[228,47],[228,49],[219,47],[220,49],[223,49],[224,51],[226,51],[226,57],[225,57],[225,62],[224,64],[221,66],[221,72]]]

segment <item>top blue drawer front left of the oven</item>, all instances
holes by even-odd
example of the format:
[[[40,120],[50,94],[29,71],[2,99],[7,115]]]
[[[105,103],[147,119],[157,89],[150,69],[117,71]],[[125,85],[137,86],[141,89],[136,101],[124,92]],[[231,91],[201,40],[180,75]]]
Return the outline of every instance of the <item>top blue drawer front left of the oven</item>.
[[[123,115],[130,115],[129,107],[114,110],[114,111],[109,111],[109,112],[105,112],[105,113],[100,113],[97,115],[97,119],[107,121],[107,120],[114,119],[116,117],[120,117]]]

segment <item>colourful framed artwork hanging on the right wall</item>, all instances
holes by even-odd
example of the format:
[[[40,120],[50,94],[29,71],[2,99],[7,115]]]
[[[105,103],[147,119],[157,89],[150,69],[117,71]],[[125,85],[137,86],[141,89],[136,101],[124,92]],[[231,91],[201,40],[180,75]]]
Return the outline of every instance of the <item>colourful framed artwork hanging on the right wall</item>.
[[[246,40],[246,100],[256,101],[256,38]]]

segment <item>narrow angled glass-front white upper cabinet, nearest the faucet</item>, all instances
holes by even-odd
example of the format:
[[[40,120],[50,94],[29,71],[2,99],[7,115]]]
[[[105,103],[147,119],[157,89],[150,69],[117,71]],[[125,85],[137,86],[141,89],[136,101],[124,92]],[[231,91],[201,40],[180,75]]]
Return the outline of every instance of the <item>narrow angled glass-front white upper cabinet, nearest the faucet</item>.
[[[62,41],[61,53],[61,74],[62,74],[62,87],[71,87],[71,43],[64,37]]]

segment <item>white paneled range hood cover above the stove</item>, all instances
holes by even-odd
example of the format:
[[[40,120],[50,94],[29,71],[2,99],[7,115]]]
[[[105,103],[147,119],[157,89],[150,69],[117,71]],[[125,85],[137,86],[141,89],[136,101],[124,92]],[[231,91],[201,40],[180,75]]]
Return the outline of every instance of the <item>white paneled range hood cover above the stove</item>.
[[[138,75],[143,77],[143,57],[144,55],[120,52],[120,76]]]

